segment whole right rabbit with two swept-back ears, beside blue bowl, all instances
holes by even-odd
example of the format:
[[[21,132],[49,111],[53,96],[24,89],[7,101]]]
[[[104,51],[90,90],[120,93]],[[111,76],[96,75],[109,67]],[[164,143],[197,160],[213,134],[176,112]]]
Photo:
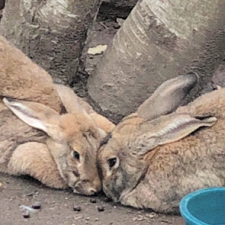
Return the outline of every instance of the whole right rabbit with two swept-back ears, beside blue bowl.
[[[98,166],[115,202],[174,213],[187,193],[225,185],[225,89],[177,109],[196,81],[166,81],[103,142]]]

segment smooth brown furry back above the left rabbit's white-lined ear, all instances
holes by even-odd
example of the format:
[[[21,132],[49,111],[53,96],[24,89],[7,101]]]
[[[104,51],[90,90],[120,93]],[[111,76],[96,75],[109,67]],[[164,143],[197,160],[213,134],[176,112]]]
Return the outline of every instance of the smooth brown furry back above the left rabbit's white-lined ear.
[[[0,36],[0,96],[39,102],[60,112],[49,74]]]

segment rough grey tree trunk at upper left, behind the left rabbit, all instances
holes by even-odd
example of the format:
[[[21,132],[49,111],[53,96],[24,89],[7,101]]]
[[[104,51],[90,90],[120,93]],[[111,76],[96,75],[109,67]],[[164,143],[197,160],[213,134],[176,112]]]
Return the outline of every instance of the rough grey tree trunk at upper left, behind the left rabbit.
[[[99,0],[7,0],[0,32],[59,83],[75,76]]]

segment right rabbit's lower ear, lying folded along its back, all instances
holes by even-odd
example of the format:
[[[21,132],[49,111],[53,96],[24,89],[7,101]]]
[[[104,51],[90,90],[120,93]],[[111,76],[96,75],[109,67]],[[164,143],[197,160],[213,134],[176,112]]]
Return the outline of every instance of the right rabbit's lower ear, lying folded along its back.
[[[178,141],[200,127],[210,127],[215,124],[215,117],[191,117],[188,114],[170,114],[161,116],[144,124],[142,135],[139,136],[139,144],[136,153],[143,155],[153,148]],[[150,127],[150,132],[148,128]],[[144,134],[143,134],[144,133]]]

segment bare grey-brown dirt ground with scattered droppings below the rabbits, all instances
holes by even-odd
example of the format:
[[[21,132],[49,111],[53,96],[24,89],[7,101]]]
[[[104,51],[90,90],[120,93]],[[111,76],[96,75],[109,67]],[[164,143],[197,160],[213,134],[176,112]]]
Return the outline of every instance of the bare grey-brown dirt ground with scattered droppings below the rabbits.
[[[70,190],[54,190],[37,181],[0,173],[1,225],[184,225],[180,216],[168,216],[135,210],[107,202],[101,196],[85,197]],[[41,204],[41,209],[25,219],[24,206]],[[76,210],[73,208],[75,206]]]

